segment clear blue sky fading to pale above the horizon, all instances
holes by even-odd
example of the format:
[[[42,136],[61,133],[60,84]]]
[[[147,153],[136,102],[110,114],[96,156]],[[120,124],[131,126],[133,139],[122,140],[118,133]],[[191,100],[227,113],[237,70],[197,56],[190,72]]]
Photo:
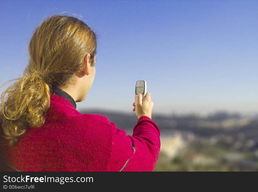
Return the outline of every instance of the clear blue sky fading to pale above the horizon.
[[[77,110],[135,113],[135,83],[146,80],[153,113],[258,112],[258,1],[1,0],[0,84],[22,74],[40,21],[65,11],[99,35]]]

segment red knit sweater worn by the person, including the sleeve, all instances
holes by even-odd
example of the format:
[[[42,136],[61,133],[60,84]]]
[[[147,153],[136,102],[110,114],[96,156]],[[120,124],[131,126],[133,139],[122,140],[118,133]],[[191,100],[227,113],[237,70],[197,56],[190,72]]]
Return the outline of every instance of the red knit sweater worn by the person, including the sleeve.
[[[50,96],[43,126],[30,127],[16,146],[1,145],[4,167],[18,171],[153,171],[160,131],[149,117],[140,117],[130,136],[107,117],[81,114],[65,98]]]

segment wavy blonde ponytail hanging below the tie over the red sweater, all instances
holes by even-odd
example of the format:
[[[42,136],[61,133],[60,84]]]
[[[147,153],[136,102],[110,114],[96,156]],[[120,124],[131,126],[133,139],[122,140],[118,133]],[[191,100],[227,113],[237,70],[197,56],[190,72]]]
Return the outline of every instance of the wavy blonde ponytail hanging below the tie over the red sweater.
[[[15,145],[28,127],[43,125],[49,106],[50,88],[38,72],[24,75],[8,87],[1,94],[0,119],[9,144]]]

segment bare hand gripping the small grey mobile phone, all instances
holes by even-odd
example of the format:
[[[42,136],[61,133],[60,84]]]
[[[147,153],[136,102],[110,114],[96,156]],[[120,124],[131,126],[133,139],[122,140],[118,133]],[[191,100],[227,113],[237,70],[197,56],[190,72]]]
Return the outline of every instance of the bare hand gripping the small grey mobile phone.
[[[142,94],[137,94],[137,98],[136,98],[136,106],[135,106],[135,102],[133,102],[133,111],[135,111],[136,116],[138,117],[138,119],[141,116],[147,116],[150,117],[151,119],[151,113],[152,113],[152,108],[154,103],[151,101],[150,98],[150,93],[147,93],[145,98],[142,101]]]

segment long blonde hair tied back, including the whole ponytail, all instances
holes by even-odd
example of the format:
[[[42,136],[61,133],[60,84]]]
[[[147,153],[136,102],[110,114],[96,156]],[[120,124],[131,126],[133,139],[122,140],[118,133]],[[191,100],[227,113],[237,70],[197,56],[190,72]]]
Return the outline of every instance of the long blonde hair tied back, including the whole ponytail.
[[[28,127],[44,124],[51,86],[65,86],[82,70],[87,53],[94,67],[96,49],[96,34],[77,18],[53,15],[40,23],[28,45],[30,58],[23,76],[1,94],[0,122],[11,146]]]

